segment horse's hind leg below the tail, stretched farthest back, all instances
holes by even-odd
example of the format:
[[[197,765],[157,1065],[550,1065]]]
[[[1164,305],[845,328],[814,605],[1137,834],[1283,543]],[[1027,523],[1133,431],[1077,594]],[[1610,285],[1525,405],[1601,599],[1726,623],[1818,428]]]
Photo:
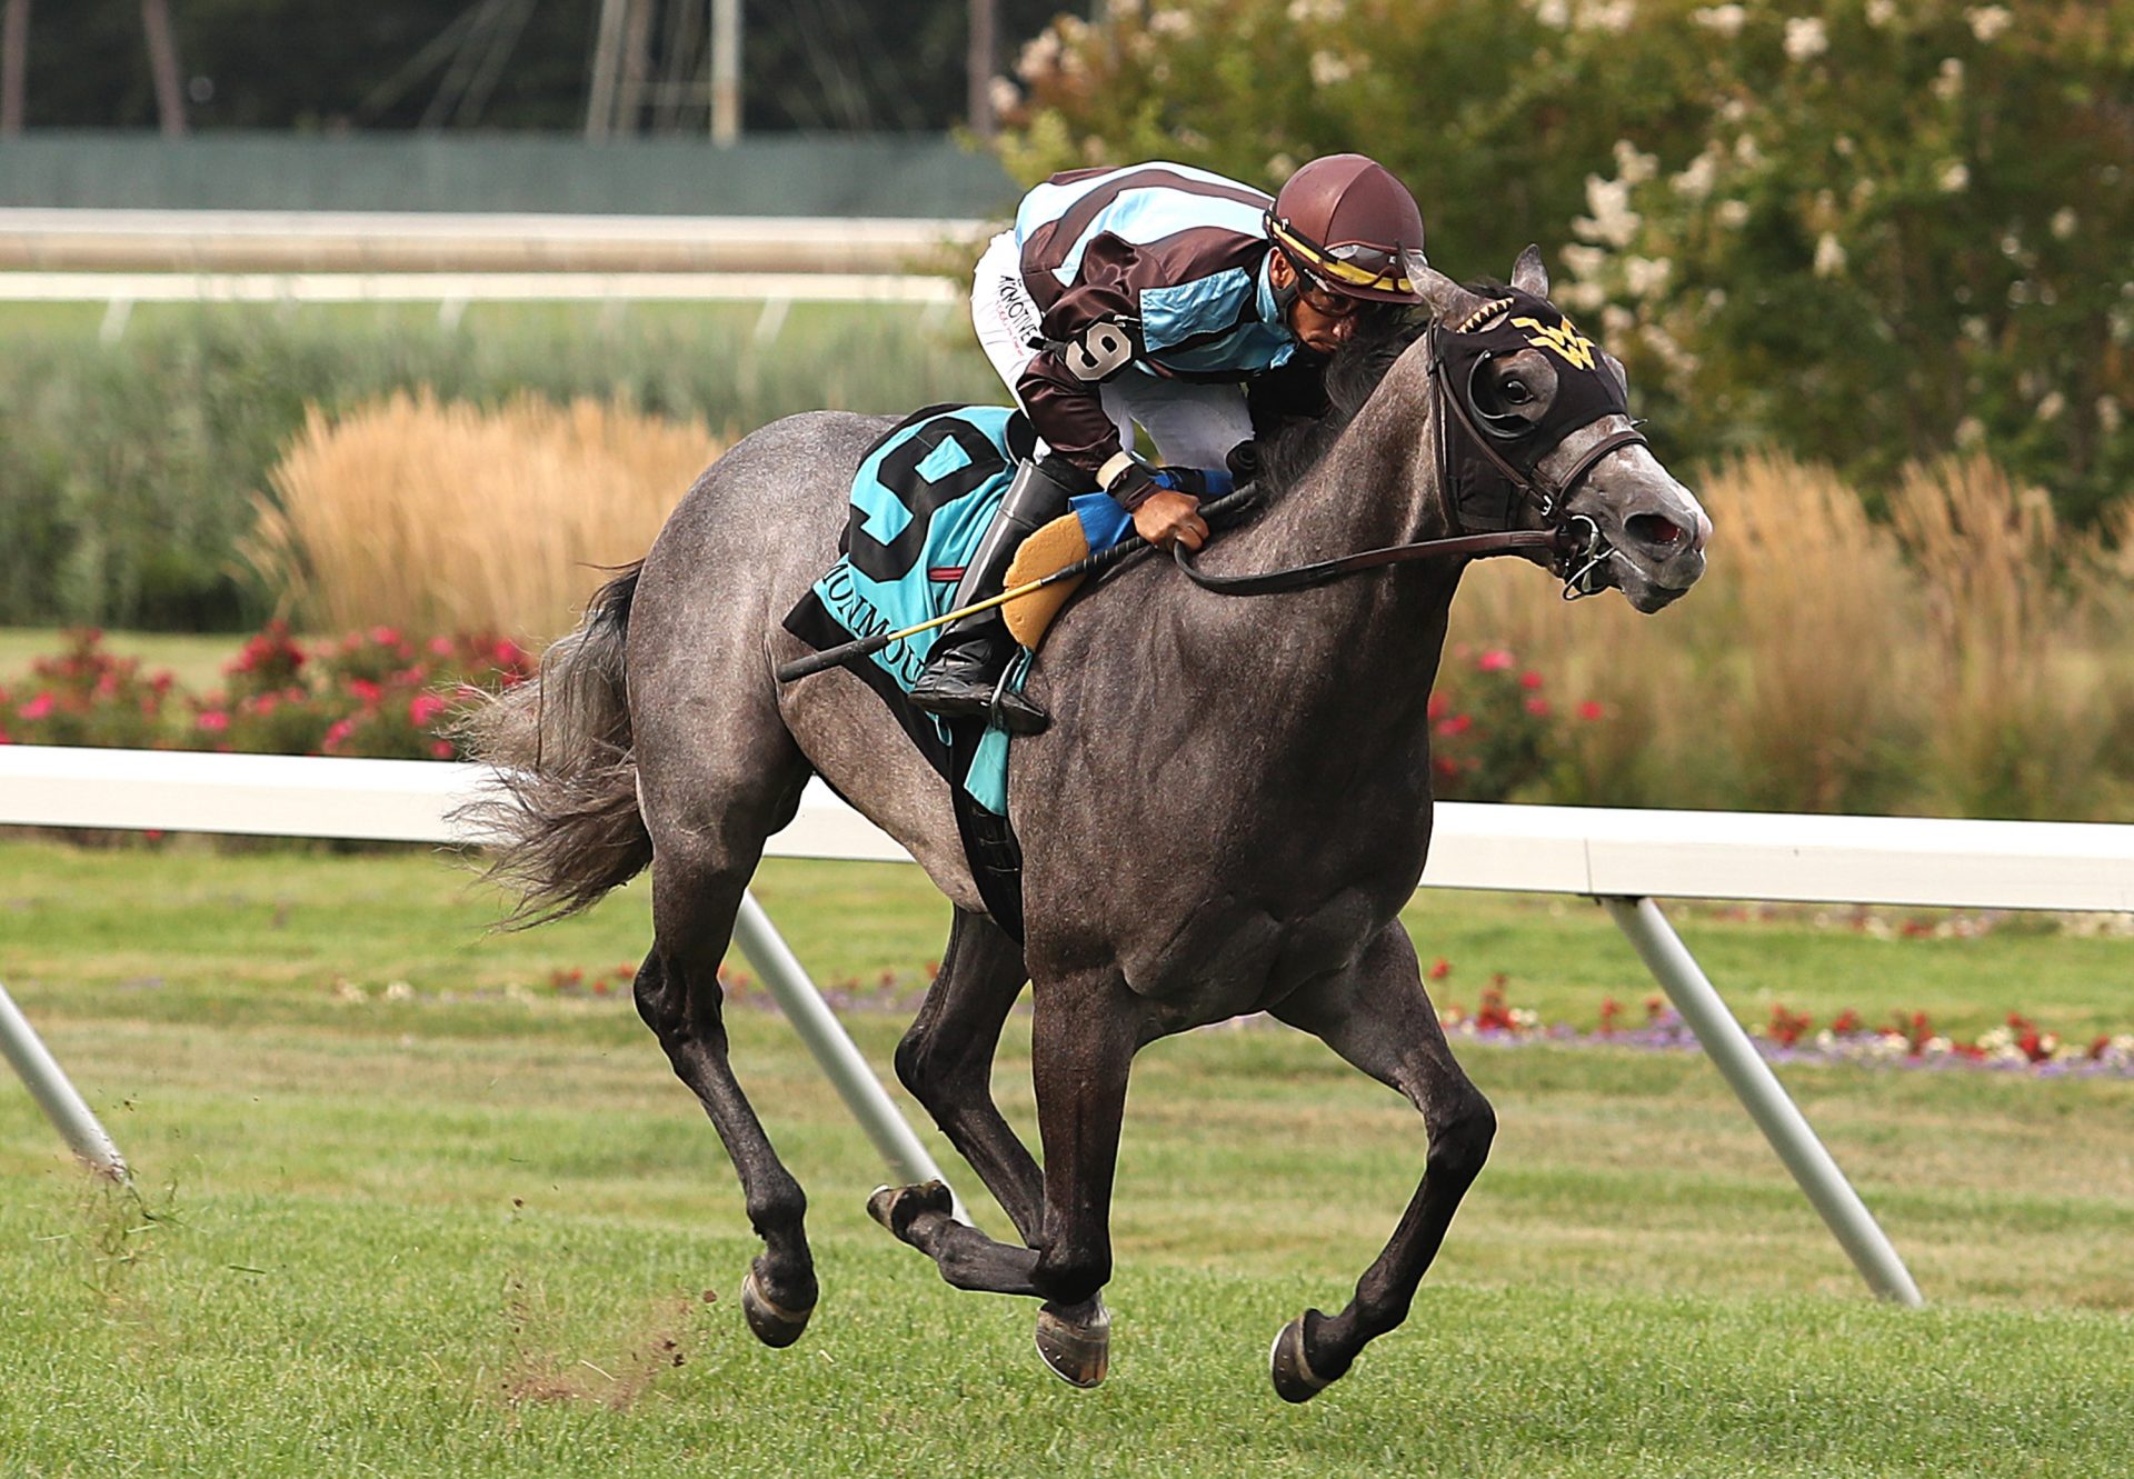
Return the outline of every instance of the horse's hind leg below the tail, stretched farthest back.
[[[798,798],[796,779],[792,796]],[[740,894],[762,854],[762,839],[783,824],[755,830],[738,820],[743,807],[721,817],[721,826],[655,830],[653,856],[653,950],[636,977],[638,1016],[659,1035],[674,1076],[704,1106],[713,1129],[740,1174],[749,1225],[764,1251],[749,1266],[740,1287],[740,1308],[749,1330],[770,1347],[787,1347],[807,1330],[815,1308],[815,1261],[802,1216],[807,1195],[779,1161],[755,1110],[728,1065],[721,1014],[719,960],[726,956],[740,909]],[[790,815],[783,798],[770,811]]]

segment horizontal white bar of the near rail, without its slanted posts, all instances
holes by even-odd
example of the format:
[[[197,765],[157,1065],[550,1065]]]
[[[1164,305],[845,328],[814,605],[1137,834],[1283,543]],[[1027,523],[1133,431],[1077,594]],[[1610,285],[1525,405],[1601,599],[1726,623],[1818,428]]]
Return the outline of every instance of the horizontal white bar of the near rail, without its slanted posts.
[[[427,760],[0,747],[0,824],[452,843],[487,770]],[[770,856],[903,862],[809,783]],[[2134,826],[1440,802],[1426,888],[2134,911]]]

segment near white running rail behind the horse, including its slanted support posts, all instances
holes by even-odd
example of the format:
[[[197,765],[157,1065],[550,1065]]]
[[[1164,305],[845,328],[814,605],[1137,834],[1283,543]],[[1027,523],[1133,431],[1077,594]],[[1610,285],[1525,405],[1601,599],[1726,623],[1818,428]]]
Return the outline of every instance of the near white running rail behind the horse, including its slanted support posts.
[[[480,766],[414,760],[0,747],[0,824],[465,843],[480,839],[448,813],[487,779]],[[766,852],[907,858],[819,781]],[[1447,802],[1421,884],[1603,898],[1869,1287],[1918,1304],[1874,1214],[1654,896],[2130,911],[2134,826]],[[892,1170],[937,1176],[760,909],[743,909],[736,941]]]

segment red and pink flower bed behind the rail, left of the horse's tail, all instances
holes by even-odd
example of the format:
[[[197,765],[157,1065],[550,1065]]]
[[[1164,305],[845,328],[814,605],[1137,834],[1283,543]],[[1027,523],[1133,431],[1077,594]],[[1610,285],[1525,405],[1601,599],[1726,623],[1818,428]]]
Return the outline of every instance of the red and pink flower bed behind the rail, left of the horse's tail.
[[[186,694],[83,630],[28,683],[0,689],[0,745],[455,760],[459,700],[534,672],[536,657],[510,638],[371,627],[303,645],[275,621],[222,668],[224,687]]]

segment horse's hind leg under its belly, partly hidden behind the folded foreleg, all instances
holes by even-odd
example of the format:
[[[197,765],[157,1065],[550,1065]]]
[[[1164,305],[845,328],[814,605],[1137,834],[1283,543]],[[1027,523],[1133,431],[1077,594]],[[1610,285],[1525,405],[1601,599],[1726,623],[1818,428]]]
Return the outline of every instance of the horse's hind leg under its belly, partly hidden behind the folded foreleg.
[[[896,1046],[896,1078],[971,1163],[1024,1242],[1037,1240],[1044,1176],[992,1103],[992,1056],[1029,973],[990,918],[956,911],[941,973]]]

